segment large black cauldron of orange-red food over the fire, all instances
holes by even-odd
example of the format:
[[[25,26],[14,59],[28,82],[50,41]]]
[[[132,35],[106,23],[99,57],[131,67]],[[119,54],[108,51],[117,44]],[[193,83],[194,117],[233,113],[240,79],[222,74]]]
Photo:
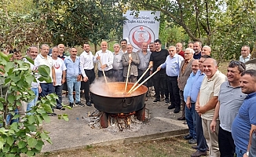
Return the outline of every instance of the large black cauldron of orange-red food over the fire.
[[[128,83],[127,92],[134,83]],[[144,108],[144,98],[148,92],[146,86],[140,86],[130,95],[125,95],[125,82],[108,82],[97,86],[93,84],[90,88],[94,107],[106,113],[130,113]]]

